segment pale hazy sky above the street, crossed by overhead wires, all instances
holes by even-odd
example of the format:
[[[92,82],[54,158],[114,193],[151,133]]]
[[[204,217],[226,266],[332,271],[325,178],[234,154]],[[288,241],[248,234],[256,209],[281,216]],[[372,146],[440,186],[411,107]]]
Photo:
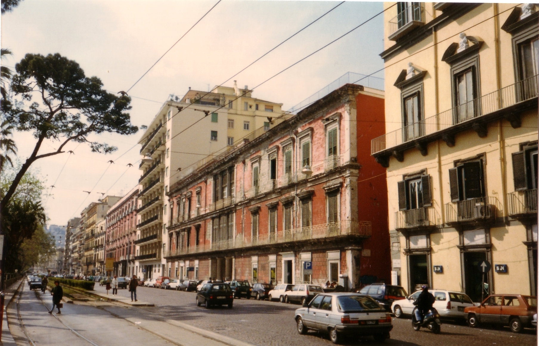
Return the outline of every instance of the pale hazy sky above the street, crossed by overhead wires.
[[[23,0],[1,18],[1,46],[13,53],[2,63],[14,67],[26,53],[60,53],[117,93],[134,85],[216,2]],[[222,84],[338,3],[222,0],[129,91],[132,123],[148,125],[170,94],[181,97],[189,87],[208,91]],[[381,11],[381,2],[345,2],[233,79],[239,87],[252,88]],[[344,73],[379,70],[382,51],[379,15],[255,88],[253,96],[289,109]],[[383,77],[383,72],[375,76]],[[232,86],[233,81],[224,85]],[[135,164],[140,160],[140,146],[135,144],[141,136],[142,130],[130,136],[94,135],[91,139],[118,150],[96,154],[86,144],[70,143],[66,153],[34,162],[32,171],[45,181],[47,223],[65,225],[103,193],[123,196],[134,188],[141,174]],[[13,139],[18,160],[24,162],[36,140],[31,132],[16,132]],[[47,141],[39,153],[58,146]]]

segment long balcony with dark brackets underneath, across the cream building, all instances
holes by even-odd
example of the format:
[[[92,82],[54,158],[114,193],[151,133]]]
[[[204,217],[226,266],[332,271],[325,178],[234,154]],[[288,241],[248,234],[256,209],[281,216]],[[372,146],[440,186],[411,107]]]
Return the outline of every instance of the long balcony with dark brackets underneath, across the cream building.
[[[426,150],[425,143],[438,139],[444,140],[452,147],[455,133],[474,129],[480,137],[485,137],[485,123],[503,117],[506,117],[513,127],[520,127],[520,120],[515,118],[512,112],[531,107],[537,107],[537,75],[376,137],[371,140],[371,155],[384,165],[384,160],[380,160],[384,156],[395,153],[402,155],[404,150],[414,147]],[[423,151],[421,153],[423,154]],[[400,155],[396,155],[398,156]],[[404,160],[402,157],[398,160],[402,161],[401,159]],[[389,162],[385,164],[384,167],[388,167]]]

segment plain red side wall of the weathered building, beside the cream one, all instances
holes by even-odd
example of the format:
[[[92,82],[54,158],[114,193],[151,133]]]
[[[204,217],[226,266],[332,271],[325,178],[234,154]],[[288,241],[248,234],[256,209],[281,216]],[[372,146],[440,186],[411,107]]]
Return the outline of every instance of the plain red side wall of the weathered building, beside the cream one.
[[[363,242],[371,255],[360,259],[361,276],[372,275],[377,282],[391,283],[386,170],[370,155],[371,139],[385,133],[384,99],[358,94],[356,104],[357,162],[361,164],[357,209],[360,220],[372,223],[372,236]]]

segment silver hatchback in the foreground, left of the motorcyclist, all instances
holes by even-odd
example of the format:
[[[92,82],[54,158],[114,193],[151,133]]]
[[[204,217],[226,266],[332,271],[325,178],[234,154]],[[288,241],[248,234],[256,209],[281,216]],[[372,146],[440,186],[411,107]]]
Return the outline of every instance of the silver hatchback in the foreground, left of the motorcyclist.
[[[320,293],[296,309],[294,319],[299,334],[308,329],[329,331],[333,343],[345,335],[372,335],[384,341],[393,328],[391,315],[372,297],[358,293]]]

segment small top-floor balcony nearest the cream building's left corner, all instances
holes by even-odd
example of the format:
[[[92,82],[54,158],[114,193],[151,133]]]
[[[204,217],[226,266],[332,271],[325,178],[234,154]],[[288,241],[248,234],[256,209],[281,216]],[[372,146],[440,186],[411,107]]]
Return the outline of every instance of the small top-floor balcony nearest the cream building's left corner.
[[[406,8],[400,11],[397,16],[389,20],[388,39],[396,41],[405,36],[417,27],[425,25],[432,20],[429,12],[425,11],[425,6],[420,3],[403,3]]]

